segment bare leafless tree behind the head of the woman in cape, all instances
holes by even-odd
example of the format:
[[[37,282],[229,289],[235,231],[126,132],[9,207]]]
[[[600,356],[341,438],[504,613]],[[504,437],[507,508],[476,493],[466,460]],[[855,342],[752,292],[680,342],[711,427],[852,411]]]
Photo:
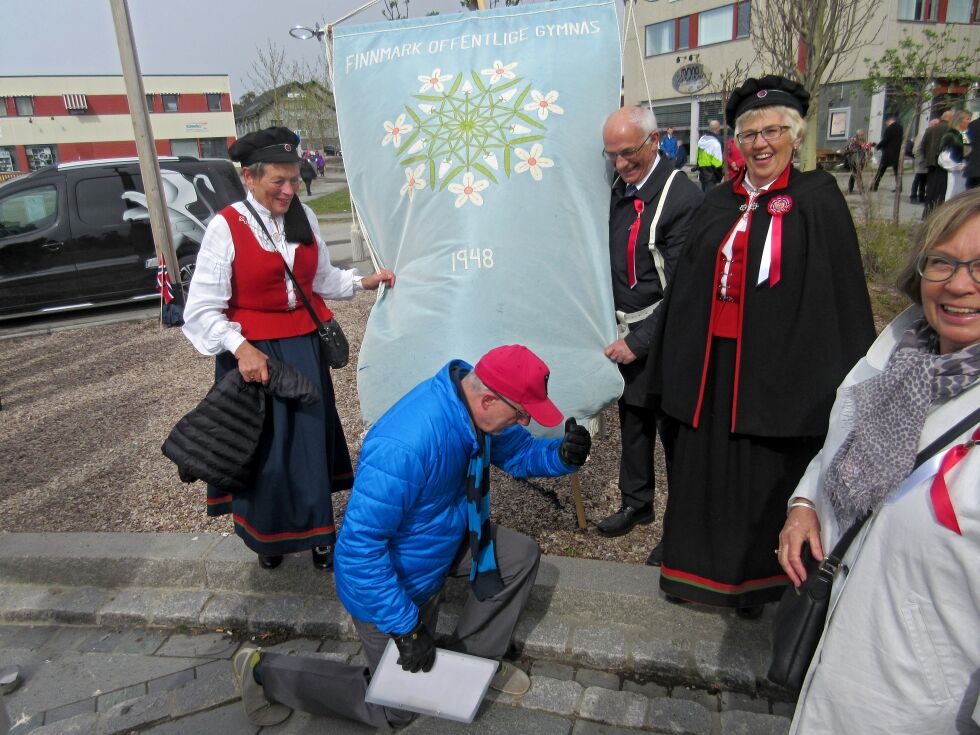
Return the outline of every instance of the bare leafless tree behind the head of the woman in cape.
[[[817,119],[821,87],[843,78],[856,54],[881,33],[881,0],[756,0],[752,45],[766,72],[799,82],[810,93],[808,120]],[[869,29],[876,29],[869,34]],[[817,138],[800,151],[804,171],[816,167]]]

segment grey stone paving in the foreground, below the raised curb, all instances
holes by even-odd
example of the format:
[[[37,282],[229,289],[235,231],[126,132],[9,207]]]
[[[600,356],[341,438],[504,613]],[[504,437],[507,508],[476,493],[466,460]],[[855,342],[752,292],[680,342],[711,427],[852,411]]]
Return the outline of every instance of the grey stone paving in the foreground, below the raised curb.
[[[11,735],[256,733],[239,704],[227,633],[67,625],[0,626],[0,662],[24,684],[2,701]],[[360,646],[291,638],[266,650],[363,662]],[[644,683],[615,672],[523,659],[531,690],[488,697],[471,725],[421,717],[405,729],[428,733],[784,733],[792,706],[732,692]],[[263,733],[369,733],[343,720],[294,713]]]

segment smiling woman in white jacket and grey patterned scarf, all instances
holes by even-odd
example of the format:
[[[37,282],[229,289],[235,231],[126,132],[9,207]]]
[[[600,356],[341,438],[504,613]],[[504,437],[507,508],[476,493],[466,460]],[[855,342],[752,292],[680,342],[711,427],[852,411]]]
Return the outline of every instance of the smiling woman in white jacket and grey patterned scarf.
[[[838,389],[779,536],[799,585],[804,543],[822,559],[873,514],[834,581],[798,735],[980,726],[980,420],[912,472],[918,451],[980,408],[980,190],[933,213],[899,285],[916,305]]]

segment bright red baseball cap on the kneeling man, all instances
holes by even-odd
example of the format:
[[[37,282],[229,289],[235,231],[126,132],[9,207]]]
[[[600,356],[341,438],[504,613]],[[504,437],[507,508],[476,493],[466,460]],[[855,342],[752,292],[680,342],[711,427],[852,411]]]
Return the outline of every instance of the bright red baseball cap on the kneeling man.
[[[548,398],[551,371],[524,345],[494,347],[473,368],[491,390],[519,404],[542,426],[558,426],[562,415]]]

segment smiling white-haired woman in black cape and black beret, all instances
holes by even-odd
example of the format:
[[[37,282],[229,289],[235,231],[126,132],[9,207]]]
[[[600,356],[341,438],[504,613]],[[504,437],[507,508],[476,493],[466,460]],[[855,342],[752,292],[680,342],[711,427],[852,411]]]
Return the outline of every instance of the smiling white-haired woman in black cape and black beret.
[[[830,174],[792,166],[808,107],[777,76],[732,94],[745,169],[692,219],[658,350],[673,444],[660,587],[747,618],[788,582],[773,553],[786,501],[875,336],[844,197]]]

